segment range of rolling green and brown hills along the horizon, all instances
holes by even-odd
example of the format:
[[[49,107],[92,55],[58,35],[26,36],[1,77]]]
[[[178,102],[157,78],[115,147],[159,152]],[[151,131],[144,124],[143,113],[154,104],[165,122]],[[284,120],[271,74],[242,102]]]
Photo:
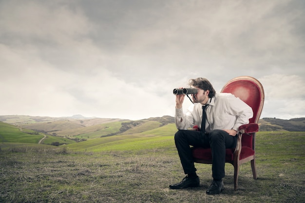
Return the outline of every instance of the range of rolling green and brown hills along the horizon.
[[[259,126],[260,131],[305,131],[305,118],[290,120],[263,118],[260,119]],[[62,145],[85,140],[94,140],[92,142],[96,142],[95,138],[111,136],[115,136],[115,139],[118,140],[169,136],[173,135],[175,131],[174,118],[172,116],[135,121],[85,118],[81,115],[62,118],[24,115],[0,116],[1,142],[38,143],[45,135],[46,139],[43,140],[42,144],[58,143]],[[111,140],[111,138],[106,140]],[[74,144],[74,146],[77,145],[80,144]]]

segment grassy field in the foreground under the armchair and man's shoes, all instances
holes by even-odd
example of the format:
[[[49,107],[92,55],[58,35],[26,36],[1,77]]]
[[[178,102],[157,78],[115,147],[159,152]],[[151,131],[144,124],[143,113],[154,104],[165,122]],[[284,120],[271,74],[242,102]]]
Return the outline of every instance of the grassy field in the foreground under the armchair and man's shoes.
[[[250,164],[246,163],[239,173],[239,189],[234,191],[233,166],[227,164],[225,190],[211,196],[206,195],[212,179],[210,165],[196,164],[200,187],[169,189],[170,184],[185,176],[173,135],[151,135],[152,131],[142,133],[142,138],[139,134],[100,138],[93,140],[94,146],[86,141],[87,146],[79,145],[78,150],[73,147],[78,143],[61,147],[0,143],[0,202],[303,203],[305,200],[305,132],[258,132],[258,179],[253,179]]]

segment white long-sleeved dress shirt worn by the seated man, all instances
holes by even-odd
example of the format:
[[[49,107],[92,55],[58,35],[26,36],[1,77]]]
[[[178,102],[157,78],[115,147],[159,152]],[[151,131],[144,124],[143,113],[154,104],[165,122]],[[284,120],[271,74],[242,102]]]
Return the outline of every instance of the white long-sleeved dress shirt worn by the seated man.
[[[216,93],[209,98],[206,108],[206,132],[214,129],[234,129],[238,131],[241,125],[248,124],[253,111],[245,102],[231,93]],[[202,104],[191,105],[186,113],[183,108],[176,109],[175,124],[177,129],[188,129],[197,125],[201,128]]]

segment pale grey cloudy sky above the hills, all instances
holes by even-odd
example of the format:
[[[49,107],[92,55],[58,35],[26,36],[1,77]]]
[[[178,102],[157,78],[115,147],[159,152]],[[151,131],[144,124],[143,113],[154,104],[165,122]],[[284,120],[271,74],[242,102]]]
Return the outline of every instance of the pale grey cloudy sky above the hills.
[[[305,117],[304,0],[0,0],[0,115],[173,116],[241,75],[261,118]]]

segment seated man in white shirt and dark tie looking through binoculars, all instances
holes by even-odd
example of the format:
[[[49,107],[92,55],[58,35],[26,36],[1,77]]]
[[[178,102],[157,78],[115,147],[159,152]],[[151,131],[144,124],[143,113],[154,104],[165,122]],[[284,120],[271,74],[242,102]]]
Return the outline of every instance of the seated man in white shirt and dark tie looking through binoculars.
[[[191,107],[184,113],[182,104],[185,95],[176,95],[175,145],[180,161],[187,176],[172,189],[199,186],[199,177],[191,154],[191,147],[211,148],[213,182],[207,194],[219,194],[224,189],[226,148],[235,148],[238,128],[248,124],[253,111],[245,102],[230,93],[216,93],[209,80],[196,78],[190,80],[191,88],[197,93],[191,94]],[[205,115],[206,114],[206,115]],[[206,119],[202,119],[205,117]],[[194,125],[200,131],[188,130]]]

